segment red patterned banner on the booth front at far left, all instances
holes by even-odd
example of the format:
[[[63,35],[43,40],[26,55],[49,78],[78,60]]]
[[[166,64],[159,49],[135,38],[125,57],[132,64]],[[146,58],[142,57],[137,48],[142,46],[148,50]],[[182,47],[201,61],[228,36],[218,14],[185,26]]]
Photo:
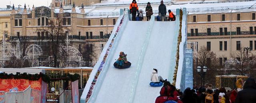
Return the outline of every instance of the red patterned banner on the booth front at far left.
[[[31,85],[32,89],[41,90],[42,78],[37,81],[30,81],[28,79],[0,79],[0,91],[9,92],[10,89],[17,88],[18,91],[24,91]]]

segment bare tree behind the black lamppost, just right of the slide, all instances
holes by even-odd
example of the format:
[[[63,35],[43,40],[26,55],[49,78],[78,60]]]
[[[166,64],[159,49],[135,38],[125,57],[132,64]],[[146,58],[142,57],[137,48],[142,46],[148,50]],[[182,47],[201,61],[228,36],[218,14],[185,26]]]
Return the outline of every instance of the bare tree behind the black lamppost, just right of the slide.
[[[215,84],[215,76],[218,74],[218,69],[220,65],[218,65],[218,59],[216,57],[216,53],[213,51],[208,51],[205,46],[201,46],[200,49],[197,52],[197,55],[194,56],[194,81],[195,85],[200,84],[201,77],[197,73],[196,67],[197,66],[206,66],[208,67],[208,70],[205,75],[205,82]]]

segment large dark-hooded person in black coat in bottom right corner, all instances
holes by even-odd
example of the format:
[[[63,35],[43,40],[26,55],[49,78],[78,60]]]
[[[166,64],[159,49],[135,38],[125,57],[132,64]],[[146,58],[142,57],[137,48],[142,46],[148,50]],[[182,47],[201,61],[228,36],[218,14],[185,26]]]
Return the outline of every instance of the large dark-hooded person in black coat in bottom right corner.
[[[245,81],[243,90],[239,91],[236,96],[235,103],[256,103],[255,79],[249,77]]]

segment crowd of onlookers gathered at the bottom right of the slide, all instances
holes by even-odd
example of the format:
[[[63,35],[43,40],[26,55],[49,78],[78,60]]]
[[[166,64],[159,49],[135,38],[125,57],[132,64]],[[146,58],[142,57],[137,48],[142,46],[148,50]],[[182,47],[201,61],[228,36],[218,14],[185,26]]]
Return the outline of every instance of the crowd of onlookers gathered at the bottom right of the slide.
[[[251,77],[244,83],[238,79],[236,89],[232,91],[226,91],[224,87],[213,91],[212,87],[206,84],[200,88],[186,88],[182,93],[165,80],[155,103],[256,103],[256,81]]]

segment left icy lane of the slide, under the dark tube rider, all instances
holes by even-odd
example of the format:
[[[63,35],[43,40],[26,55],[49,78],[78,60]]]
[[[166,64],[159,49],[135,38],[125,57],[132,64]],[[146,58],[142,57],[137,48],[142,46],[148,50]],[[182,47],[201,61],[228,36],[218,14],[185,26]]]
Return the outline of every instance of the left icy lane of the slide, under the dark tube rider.
[[[102,82],[98,95],[89,103],[124,103],[129,99],[131,84],[134,79],[138,57],[146,38],[149,22],[128,21],[118,42],[110,62],[106,77]],[[116,45],[116,44],[114,44]],[[132,63],[130,68],[116,69],[112,64],[118,59],[120,51],[127,54],[127,60]]]

